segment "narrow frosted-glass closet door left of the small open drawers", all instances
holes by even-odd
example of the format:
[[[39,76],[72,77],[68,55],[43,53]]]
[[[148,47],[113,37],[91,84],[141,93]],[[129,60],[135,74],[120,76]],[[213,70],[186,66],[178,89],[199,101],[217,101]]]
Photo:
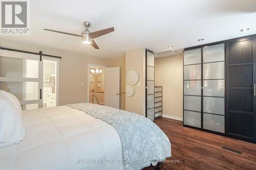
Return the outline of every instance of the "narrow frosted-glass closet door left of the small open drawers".
[[[155,54],[146,50],[146,117],[155,120]]]

